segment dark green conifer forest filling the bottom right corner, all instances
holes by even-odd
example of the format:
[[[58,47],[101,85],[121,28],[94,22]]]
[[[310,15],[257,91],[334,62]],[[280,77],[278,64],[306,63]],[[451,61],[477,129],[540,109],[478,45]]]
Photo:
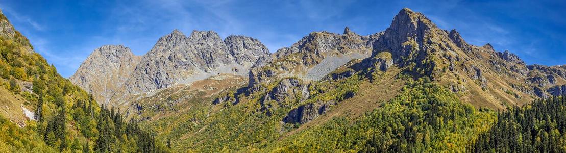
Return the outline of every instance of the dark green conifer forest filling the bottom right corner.
[[[498,111],[497,121],[470,152],[566,152],[566,97]]]

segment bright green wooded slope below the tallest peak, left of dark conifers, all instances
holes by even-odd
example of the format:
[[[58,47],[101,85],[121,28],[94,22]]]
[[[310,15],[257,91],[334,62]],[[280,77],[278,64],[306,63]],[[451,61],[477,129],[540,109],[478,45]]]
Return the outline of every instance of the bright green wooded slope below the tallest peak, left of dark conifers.
[[[382,105],[357,119],[334,117],[265,150],[464,151],[494,121],[493,113],[475,110],[434,83],[410,83],[395,99]],[[379,143],[372,146],[371,139]]]

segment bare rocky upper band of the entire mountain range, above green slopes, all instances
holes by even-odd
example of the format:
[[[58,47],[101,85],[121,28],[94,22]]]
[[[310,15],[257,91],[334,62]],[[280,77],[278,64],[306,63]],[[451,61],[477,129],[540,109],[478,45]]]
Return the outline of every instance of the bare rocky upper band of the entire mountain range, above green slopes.
[[[380,54],[391,57],[379,59]],[[409,68],[415,75],[431,76],[475,106],[504,108],[566,91],[566,66],[526,65],[489,43],[469,45],[455,29],[439,29],[409,9],[383,32],[360,36],[348,27],[342,34],[312,32],[273,54],[255,38],[222,40],[215,32],[198,30],[187,37],[173,30],[141,57],[121,45],[102,46],[70,80],[100,103],[127,107],[156,91],[219,74],[248,77],[248,88],[284,77],[319,81],[353,59],[366,59],[363,67],[385,64],[381,71]]]

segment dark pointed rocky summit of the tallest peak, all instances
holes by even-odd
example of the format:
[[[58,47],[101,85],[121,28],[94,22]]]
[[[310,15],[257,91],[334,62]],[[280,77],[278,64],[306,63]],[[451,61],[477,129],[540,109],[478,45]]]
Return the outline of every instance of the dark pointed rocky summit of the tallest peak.
[[[453,33],[453,36],[456,34]],[[388,51],[392,54],[393,63],[398,64],[399,67],[414,65],[411,69],[413,75],[438,76],[442,72],[435,70],[434,67],[440,63],[427,62],[427,59],[437,58],[437,61],[449,61],[449,58],[460,59],[458,56],[462,54],[456,53],[460,50],[458,48],[449,38],[447,31],[436,27],[421,13],[404,8],[395,16],[383,36],[374,42],[373,55]]]

